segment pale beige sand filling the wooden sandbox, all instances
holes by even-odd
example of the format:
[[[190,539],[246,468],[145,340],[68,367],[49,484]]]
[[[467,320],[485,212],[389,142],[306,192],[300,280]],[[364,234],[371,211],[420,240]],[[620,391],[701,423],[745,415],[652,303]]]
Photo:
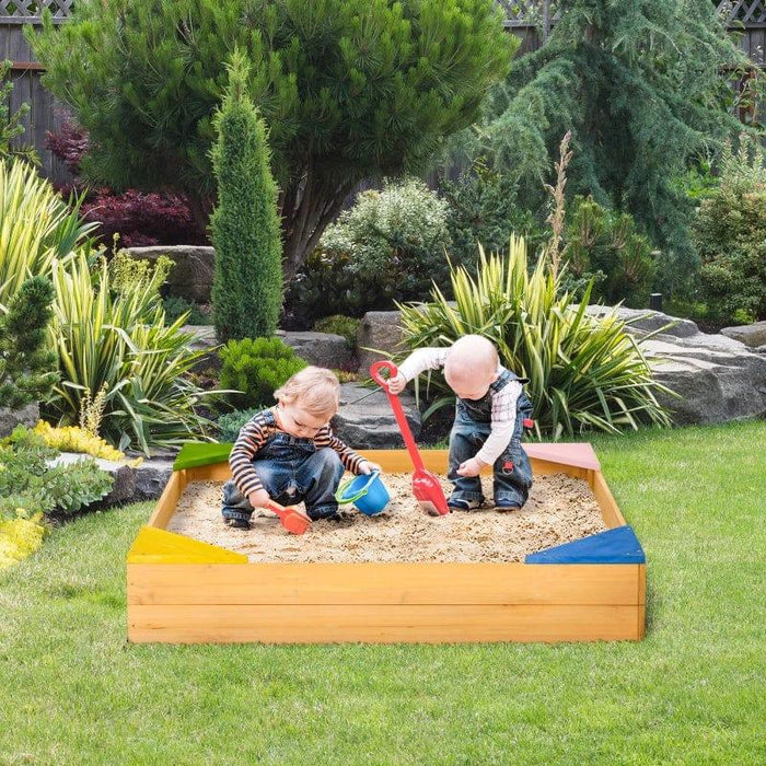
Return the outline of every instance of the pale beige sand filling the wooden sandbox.
[[[449,496],[452,485],[439,478]],[[520,511],[487,506],[438,518],[420,510],[409,474],[385,474],[384,481],[392,496],[384,513],[371,518],[347,506],[339,521],[314,522],[301,536],[289,534],[266,510],[254,512],[249,530],[225,526],[220,513],[223,484],[195,481],[184,490],[167,529],[246,554],[251,561],[271,562],[523,561],[526,554],[606,529],[588,484],[565,474],[535,477]],[[491,476],[483,483],[491,498]]]

